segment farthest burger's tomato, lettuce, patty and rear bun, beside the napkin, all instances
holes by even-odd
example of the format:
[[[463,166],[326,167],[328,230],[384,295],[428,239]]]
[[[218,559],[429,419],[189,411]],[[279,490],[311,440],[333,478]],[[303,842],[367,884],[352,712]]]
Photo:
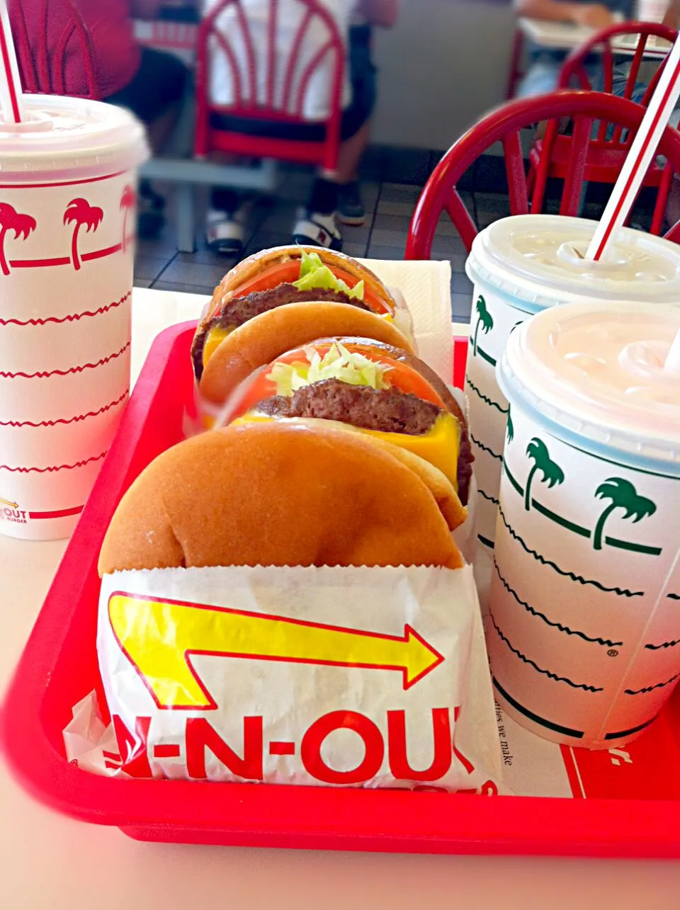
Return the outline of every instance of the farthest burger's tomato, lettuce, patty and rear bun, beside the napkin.
[[[356,259],[316,247],[266,249],[239,262],[215,288],[191,349],[197,379],[234,329],[271,309],[309,301],[343,303],[375,313],[411,334],[408,311]]]

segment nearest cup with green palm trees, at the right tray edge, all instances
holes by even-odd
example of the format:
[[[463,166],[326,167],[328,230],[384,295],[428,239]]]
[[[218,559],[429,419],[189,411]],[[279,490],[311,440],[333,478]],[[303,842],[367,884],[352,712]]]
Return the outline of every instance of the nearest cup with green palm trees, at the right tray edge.
[[[680,308],[566,304],[513,332],[487,642],[495,696],[559,743],[642,733],[680,679]]]

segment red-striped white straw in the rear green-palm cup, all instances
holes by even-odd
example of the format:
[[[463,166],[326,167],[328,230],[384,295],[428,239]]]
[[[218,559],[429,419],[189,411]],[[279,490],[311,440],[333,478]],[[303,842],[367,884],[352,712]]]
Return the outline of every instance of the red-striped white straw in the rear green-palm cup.
[[[679,96],[680,37],[668,54],[664,72],[625,158],[624,167],[621,168],[621,174],[585,254],[586,259],[603,258],[615,232],[623,225],[640,191],[644,175],[655,157],[656,148]]]

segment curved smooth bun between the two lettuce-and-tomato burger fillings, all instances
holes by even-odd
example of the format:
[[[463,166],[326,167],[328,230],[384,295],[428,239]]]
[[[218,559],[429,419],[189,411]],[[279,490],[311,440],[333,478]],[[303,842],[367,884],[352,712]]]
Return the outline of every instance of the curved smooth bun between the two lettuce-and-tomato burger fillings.
[[[411,342],[391,322],[344,303],[289,303],[244,322],[208,360],[198,390],[223,404],[239,382],[287,350],[327,335],[361,335],[412,352]]]

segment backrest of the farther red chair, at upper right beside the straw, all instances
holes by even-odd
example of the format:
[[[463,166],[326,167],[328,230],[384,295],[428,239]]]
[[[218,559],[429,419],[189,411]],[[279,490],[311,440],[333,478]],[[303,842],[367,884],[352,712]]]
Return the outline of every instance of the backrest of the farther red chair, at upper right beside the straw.
[[[630,52],[622,56],[620,45],[625,36],[631,38],[630,49],[634,47],[634,54]],[[637,36],[637,43],[634,44],[634,38]],[[617,62],[624,62],[627,72],[625,73],[625,82],[623,86],[616,86],[616,94],[624,98],[632,98],[640,74],[645,54],[648,52],[651,39],[661,38],[671,44],[675,43],[677,32],[675,28],[669,28],[668,25],[662,25],[656,22],[625,22],[619,25],[609,25],[602,31],[597,32],[592,38],[584,41],[579,45],[564,61],[557,81],[558,88],[583,88],[585,90],[595,89],[604,91],[608,95],[614,94],[614,65]],[[619,48],[617,48],[619,44]],[[628,48],[626,48],[628,49]],[[597,59],[597,72],[601,76],[601,84],[593,83],[592,74],[593,61]],[[635,98],[638,104],[646,106],[649,99],[654,93],[655,87],[664,70],[667,56],[656,57],[656,69],[652,78],[644,91],[644,96]],[[648,61],[651,62],[651,61]],[[646,81],[646,80],[645,80]]]

